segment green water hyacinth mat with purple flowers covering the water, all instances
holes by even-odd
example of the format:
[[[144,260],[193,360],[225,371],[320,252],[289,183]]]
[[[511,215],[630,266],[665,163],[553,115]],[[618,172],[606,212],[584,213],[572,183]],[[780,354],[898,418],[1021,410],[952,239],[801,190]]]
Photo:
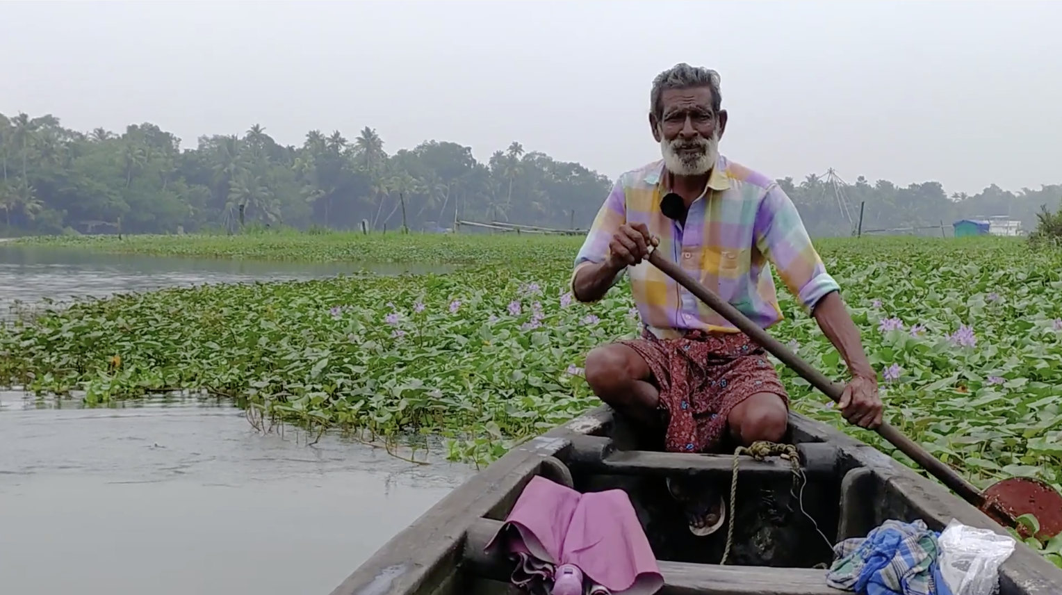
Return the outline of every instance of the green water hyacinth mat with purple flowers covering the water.
[[[350,250],[343,238],[174,237],[151,253],[202,256],[204,246],[229,242],[230,255],[328,259]],[[452,436],[455,458],[486,461],[596,404],[580,377],[586,351],[636,332],[626,286],[592,306],[564,295],[579,239],[350,238],[359,253],[392,259],[432,254],[432,261],[494,265],[87,302],[0,328],[0,378],[42,393],[84,390],[90,402],[203,389],[315,427]],[[1059,484],[1062,258],[1005,240],[819,243],[871,361],[887,372],[889,421],[975,481],[1030,475]],[[787,320],[772,334],[842,378],[815,322],[781,298]],[[876,435],[846,426],[805,382],[783,376],[798,410],[891,452]]]

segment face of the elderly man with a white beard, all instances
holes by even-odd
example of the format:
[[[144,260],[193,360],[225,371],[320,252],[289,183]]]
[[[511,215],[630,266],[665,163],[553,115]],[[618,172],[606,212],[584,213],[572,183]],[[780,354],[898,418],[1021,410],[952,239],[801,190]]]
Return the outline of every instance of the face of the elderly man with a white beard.
[[[653,138],[661,143],[664,164],[671,173],[701,175],[719,158],[719,138],[726,128],[726,112],[712,108],[712,89],[668,89],[661,97],[657,119],[649,115]]]

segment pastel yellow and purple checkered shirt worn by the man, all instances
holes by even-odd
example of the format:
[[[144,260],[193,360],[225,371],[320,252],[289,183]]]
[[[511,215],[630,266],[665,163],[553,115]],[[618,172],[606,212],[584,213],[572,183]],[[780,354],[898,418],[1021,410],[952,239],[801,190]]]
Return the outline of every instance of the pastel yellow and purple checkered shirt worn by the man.
[[[579,250],[572,282],[580,268],[609,257],[609,241],[620,225],[645,223],[660,238],[665,257],[763,328],[783,318],[768,260],[807,310],[839,289],[796,207],[773,180],[720,156],[704,193],[689,206],[684,228],[661,212],[667,178],[663,160],[619,176]],[[738,330],[649,262],[626,273],[641,322],[657,337]]]

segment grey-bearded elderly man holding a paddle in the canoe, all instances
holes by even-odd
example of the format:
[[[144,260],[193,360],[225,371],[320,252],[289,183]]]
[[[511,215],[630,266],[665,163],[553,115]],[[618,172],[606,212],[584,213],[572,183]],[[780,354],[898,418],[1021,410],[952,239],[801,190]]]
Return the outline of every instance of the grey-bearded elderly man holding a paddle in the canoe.
[[[726,130],[721,103],[713,70],[679,64],[653,81],[649,126],[664,158],[619,176],[571,277],[576,299],[594,302],[626,271],[643,336],[590,351],[586,381],[637,426],[663,430],[670,452],[710,453],[785,438],[788,396],[764,350],[643,261],[655,236],[656,250],[764,328],[782,319],[768,261],[773,264],[847,362],[852,378],[841,413],[876,427],[877,374],[839,287],[782,188],[719,154]],[[672,494],[686,499],[676,483],[668,482]],[[688,512],[695,533],[722,525],[721,493],[696,508],[702,510]]]

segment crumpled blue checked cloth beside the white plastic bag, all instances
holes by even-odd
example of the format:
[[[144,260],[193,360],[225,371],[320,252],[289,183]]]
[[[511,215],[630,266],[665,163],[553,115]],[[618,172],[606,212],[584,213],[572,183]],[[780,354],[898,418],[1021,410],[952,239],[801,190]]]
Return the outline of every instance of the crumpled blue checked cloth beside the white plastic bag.
[[[937,566],[937,538],[922,521],[886,521],[834,546],[826,584],[857,595],[950,595]]]

